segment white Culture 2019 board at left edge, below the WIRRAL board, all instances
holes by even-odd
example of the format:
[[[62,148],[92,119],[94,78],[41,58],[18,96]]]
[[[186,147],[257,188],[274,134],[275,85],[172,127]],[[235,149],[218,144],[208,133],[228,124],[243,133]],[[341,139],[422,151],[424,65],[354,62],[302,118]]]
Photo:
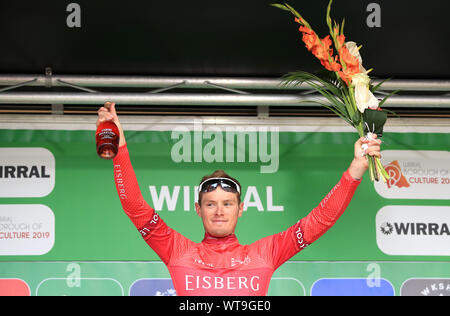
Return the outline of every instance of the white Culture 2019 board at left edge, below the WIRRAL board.
[[[42,204],[0,204],[0,255],[43,255],[55,243],[55,215]]]

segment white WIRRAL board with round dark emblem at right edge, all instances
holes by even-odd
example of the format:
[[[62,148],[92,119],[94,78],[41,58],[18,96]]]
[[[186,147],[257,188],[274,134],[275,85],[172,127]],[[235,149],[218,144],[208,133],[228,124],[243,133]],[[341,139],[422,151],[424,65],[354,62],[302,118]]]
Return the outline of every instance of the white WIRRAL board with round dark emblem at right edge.
[[[450,255],[448,206],[386,206],[376,228],[378,248],[388,255]]]

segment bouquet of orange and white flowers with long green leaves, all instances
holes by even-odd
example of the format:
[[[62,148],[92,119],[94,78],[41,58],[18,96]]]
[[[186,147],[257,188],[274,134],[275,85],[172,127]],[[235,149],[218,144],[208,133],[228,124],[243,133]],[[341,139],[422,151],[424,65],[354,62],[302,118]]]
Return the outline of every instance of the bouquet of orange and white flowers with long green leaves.
[[[344,119],[358,131],[360,137],[370,138],[372,133],[382,136],[387,113],[381,110],[381,105],[396,91],[388,94],[379,101],[373,93],[383,82],[376,86],[370,84],[368,73],[372,70],[364,69],[359,54],[361,47],[355,42],[345,41],[344,23],[336,23],[330,17],[330,0],[327,8],[326,21],[330,34],[320,38],[310,24],[288,4],[272,4],[272,6],[291,12],[295,22],[300,24],[299,31],[306,48],[316,56],[326,69],[321,74],[311,74],[304,71],[292,72],[284,76],[284,84],[307,83],[328,102],[309,101],[323,105]],[[336,54],[333,50],[336,50]],[[389,175],[377,157],[367,155],[369,173],[372,181],[379,181],[380,177],[386,182]]]

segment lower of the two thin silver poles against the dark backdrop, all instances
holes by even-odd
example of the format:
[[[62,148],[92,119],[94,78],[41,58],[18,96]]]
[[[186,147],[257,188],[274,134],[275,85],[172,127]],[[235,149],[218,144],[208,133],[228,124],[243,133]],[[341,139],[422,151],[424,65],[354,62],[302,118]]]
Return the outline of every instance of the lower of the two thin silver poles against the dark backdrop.
[[[103,104],[121,105],[189,105],[189,106],[317,106],[308,100],[326,101],[322,97],[279,94],[149,94],[149,93],[0,93],[0,104]],[[392,96],[384,107],[450,108],[449,96]]]

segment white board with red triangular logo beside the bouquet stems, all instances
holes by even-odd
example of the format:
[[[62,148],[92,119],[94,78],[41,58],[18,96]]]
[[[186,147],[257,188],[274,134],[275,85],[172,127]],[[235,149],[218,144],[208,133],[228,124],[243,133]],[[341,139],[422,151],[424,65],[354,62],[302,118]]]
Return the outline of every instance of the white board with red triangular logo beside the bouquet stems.
[[[374,182],[388,199],[450,199],[450,152],[386,150],[384,167],[390,179]]]

